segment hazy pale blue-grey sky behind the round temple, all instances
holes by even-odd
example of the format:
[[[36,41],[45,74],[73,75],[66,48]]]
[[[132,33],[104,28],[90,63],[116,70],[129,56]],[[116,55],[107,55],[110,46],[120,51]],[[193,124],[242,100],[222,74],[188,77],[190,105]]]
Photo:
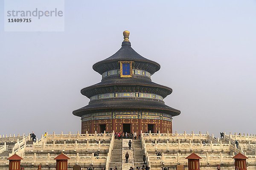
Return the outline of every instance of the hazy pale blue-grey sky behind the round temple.
[[[161,65],[178,133],[256,133],[256,1],[65,1],[64,32],[5,32],[0,1],[0,134],[76,133],[92,65],[121,47]],[[47,27],[47,25],[45,25]]]

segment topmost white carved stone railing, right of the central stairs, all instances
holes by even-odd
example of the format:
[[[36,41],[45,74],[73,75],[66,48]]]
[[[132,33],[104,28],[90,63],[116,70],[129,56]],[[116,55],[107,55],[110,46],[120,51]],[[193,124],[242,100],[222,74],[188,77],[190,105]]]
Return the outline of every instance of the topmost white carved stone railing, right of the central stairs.
[[[144,137],[144,139],[200,139],[200,140],[208,140],[209,138],[209,134],[207,132],[207,134],[201,134],[201,132],[199,132],[199,134],[195,134],[193,131],[192,133],[186,133],[186,131],[184,131],[184,133],[151,133],[151,131],[149,131],[149,133],[142,133],[142,136]]]

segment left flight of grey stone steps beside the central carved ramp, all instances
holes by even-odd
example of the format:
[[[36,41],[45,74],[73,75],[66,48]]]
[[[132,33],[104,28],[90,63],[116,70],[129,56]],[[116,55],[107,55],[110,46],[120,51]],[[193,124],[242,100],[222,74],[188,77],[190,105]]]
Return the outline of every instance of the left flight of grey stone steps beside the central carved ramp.
[[[114,140],[109,168],[114,169],[115,167],[117,167],[118,170],[122,170],[122,139]]]

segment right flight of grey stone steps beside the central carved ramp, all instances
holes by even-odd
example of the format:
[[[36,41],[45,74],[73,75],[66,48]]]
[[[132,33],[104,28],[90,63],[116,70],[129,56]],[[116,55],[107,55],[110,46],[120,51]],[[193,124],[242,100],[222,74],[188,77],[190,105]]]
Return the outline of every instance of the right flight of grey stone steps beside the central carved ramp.
[[[133,149],[134,149],[134,165],[135,167],[142,168],[144,161],[143,161],[143,149],[141,147],[140,139],[133,140]]]

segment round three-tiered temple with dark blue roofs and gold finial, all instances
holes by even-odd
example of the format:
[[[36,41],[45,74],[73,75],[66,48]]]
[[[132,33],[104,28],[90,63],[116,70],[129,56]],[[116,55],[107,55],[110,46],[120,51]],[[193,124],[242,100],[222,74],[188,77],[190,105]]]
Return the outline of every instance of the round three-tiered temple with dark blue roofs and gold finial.
[[[81,90],[90,99],[87,106],[73,111],[81,117],[82,133],[172,133],[172,117],[180,111],[163,101],[172,89],[151,81],[160,65],[134,51],[129,34],[123,32],[122,47],[115,54],[93,65],[102,81]]]

